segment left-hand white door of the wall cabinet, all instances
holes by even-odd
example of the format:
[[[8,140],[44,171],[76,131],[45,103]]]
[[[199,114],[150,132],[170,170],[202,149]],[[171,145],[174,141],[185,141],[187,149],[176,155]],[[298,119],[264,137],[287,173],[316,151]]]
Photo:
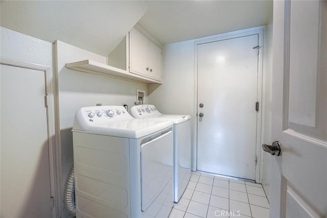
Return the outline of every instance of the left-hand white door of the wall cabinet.
[[[149,40],[135,29],[132,29],[130,38],[130,72],[148,76],[148,46]]]

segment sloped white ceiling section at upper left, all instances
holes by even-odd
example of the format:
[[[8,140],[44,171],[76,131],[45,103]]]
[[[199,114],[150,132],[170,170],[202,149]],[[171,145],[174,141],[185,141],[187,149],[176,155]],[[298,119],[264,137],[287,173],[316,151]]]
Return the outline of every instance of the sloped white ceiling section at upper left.
[[[0,1],[2,27],[107,56],[144,15],[143,1]]]

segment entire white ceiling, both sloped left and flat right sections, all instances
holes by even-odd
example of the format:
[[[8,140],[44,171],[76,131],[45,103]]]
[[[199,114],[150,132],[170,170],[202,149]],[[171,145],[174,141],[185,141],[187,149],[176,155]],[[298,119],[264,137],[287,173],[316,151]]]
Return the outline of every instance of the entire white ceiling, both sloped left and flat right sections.
[[[138,22],[161,44],[272,21],[272,1],[0,1],[2,27],[103,56]]]

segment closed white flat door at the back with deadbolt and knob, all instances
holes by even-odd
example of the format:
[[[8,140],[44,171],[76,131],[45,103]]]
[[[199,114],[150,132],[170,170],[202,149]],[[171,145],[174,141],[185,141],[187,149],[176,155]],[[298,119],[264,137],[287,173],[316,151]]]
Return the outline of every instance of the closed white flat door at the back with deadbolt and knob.
[[[199,171],[255,180],[258,43],[253,34],[197,45]]]

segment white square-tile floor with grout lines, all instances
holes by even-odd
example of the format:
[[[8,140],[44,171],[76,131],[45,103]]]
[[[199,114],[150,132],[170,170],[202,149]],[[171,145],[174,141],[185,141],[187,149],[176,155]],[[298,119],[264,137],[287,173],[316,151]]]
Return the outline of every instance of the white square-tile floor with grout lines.
[[[268,218],[269,203],[261,184],[193,172],[169,218],[199,217]]]

